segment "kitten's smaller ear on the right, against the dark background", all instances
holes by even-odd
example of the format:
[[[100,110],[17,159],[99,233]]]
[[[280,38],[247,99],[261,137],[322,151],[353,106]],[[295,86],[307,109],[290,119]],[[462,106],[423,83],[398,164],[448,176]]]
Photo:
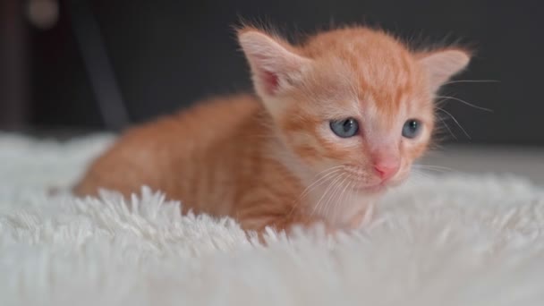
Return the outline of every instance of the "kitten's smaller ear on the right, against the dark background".
[[[429,85],[433,92],[456,73],[461,72],[471,60],[469,52],[456,48],[425,52],[417,56],[429,75]]]

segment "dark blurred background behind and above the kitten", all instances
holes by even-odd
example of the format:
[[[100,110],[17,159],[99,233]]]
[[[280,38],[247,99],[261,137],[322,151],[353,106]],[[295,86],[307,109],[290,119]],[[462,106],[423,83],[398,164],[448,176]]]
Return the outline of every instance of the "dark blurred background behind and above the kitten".
[[[232,26],[286,32],[365,21],[461,38],[478,53],[444,91],[450,141],[544,146],[544,3],[387,0],[0,0],[0,129],[103,131],[251,89]],[[111,70],[110,70],[111,69]],[[93,79],[94,78],[94,79]]]

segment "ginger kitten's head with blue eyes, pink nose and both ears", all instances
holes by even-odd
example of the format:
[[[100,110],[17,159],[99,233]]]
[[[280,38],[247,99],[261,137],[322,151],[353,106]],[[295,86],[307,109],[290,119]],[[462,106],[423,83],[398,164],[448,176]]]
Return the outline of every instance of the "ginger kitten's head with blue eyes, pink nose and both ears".
[[[300,46],[254,28],[238,35],[286,147],[310,173],[336,171],[364,192],[409,174],[429,145],[435,92],[470,60],[454,47],[412,52],[360,27],[321,32]]]

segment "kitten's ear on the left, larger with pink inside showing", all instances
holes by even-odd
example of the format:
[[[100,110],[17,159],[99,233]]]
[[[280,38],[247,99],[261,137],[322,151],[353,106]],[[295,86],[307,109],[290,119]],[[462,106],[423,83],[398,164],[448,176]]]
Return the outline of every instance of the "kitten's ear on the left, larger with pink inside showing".
[[[240,30],[238,39],[251,66],[255,89],[260,95],[275,96],[293,85],[310,59],[297,55],[286,42],[259,30]]]

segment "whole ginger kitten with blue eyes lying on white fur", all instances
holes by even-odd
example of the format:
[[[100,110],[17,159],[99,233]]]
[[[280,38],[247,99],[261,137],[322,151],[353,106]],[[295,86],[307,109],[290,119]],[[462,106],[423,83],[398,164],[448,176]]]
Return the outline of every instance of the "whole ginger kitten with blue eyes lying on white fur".
[[[125,132],[74,188],[124,195],[149,185],[183,211],[246,230],[359,225],[427,149],[438,88],[467,51],[411,51],[380,30],[327,30],[293,46],[238,31],[256,96],[200,103]]]

